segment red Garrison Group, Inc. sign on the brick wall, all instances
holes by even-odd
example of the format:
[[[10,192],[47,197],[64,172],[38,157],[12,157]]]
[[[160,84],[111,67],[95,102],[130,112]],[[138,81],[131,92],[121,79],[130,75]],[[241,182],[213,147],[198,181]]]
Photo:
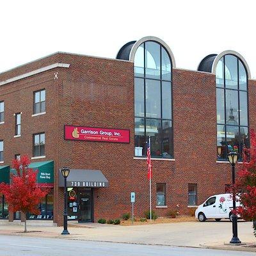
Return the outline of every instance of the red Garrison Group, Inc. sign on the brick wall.
[[[129,143],[130,131],[125,129],[107,129],[65,125],[65,140],[105,141]]]

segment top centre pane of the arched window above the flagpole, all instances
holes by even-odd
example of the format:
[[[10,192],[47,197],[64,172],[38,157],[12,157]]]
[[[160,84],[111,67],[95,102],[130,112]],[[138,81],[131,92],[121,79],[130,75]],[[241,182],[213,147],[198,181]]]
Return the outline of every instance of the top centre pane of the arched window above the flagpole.
[[[145,42],[146,77],[160,79],[160,45]]]

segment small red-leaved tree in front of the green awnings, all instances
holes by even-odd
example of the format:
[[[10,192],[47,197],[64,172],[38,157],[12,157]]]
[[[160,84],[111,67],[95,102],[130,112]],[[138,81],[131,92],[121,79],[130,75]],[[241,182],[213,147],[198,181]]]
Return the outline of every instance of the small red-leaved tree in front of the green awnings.
[[[38,204],[44,198],[49,189],[42,188],[36,184],[37,172],[28,168],[30,161],[28,156],[22,156],[13,160],[13,168],[17,174],[11,173],[10,184],[0,184],[0,192],[3,193],[8,210],[12,212],[21,211],[25,215],[25,230],[27,232],[26,216],[30,212],[32,214],[40,214]]]

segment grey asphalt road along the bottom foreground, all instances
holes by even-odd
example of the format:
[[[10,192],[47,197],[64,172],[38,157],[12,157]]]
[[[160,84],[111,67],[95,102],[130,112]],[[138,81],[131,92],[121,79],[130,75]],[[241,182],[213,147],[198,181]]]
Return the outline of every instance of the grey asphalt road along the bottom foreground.
[[[76,241],[54,238],[0,236],[0,256],[249,256],[250,252],[231,252],[200,248],[124,243]]]

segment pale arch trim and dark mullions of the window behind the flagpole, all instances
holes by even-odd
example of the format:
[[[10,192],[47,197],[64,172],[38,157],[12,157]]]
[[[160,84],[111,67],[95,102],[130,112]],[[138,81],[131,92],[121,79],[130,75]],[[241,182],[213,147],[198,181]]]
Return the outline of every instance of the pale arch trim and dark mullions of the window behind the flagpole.
[[[152,78],[149,78],[149,77],[146,77],[146,65],[145,65],[145,52],[146,52],[146,49],[145,49],[145,44],[147,42],[154,42],[156,44],[159,45],[160,47],[160,58],[161,58],[161,61],[160,61],[160,78],[159,79],[152,79]],[[171,130],[171,134],[170,134],[170,137],[171,137],[171,144],[172,144],[172,148],[169,148],[169,152],[171,154],[169,154],[169,156],[166,156],[167,154],[163,154],[163,153],[166,153],[163,151],[163,148],[164,148],[164,144],[163,144],[163,136],[161,137],[161,156],[154,156],[154,154],[152,154],[152,157],[161,157],[161,158],[173,158],[173,93],[172,93],[172,68],[175,67],[175,60],[174,60],[174,57],[173,57],[173,54],[172,54],[172,51],[170,50],[170,48],[168,47],[168,45],[166,45],[162,40],[160,40],[159,38],[155,38],[155,37],[152,37],[152,36],[148,36],[146,38],[142,38],[141,40],[137,41],[136,44],[134,44],[134,46],[132,47],[132,50],[130,52],[130,60],[134,61],[135,59],[135,54],[136,54],[136,51],[137,49],[140,47],[140,45],[143,45],[143,61],[144,61],[144,72],[143,72],[143,77],[141,76],[136,76],[136,73],[134,72],[134,89],[135,89],[135,81],[136,81],[136,78],[142,78],[143,81],[144,81],[144,89],[143,89],[143,92],[144,92],[144,116],[136,116],[135,115],[135,95],[134,95],[134,122],[135,122],[135,118],[141,118],[144,120],[144,147],[143,147],[143,152],[141,152],[142,154],[136,154],[136,141],[134,141],[134,147],[135,147],[135,152],[134,152],[134,155],[136,157],[138,156],[141,156],[141,157],[145,157],[146,154],[147,154],[147,142],[146,140],[147,139],[147,133],[146,133],[146,123],[147,123],[147,120],[159,120],[161,122],[161,134],[163,135],[163,121],[170,121],[170,124],[171,124],[171,127],[170,130]],[[170,68],[170,76],[171,76],[171,79],[168,80],[167,82],[170,83],[170,86],[171,86],[171,108],[172,108],[172,111],[171,111],[171,118],[170,119],[166,119],[166,118],[163,118],[163,82],[165,82],[165,80],[163,79],[162,77],[162,49],[164,49],[166,51],[166,53],[168,54],[168,57],[170,59],[170,64],[171,64],[171,68]],[[145,98],[145,81],[146,79],[149,79],[149,80],[157,80],[157,81],[160,81],[160,88],[161,88],[161,104],[160,104],[160,108],[161,108],[161,118],[149,118],[147,117],[146,115],[146,111],[147,109],[146,108],[146,98]],[[135,94],[135,90],[134,90],[134,94]],[[135,127],[134,127],[135,129]],[[134,131],[135,133],[135,131]],[[134,135],[136,136],[136,135]]]

